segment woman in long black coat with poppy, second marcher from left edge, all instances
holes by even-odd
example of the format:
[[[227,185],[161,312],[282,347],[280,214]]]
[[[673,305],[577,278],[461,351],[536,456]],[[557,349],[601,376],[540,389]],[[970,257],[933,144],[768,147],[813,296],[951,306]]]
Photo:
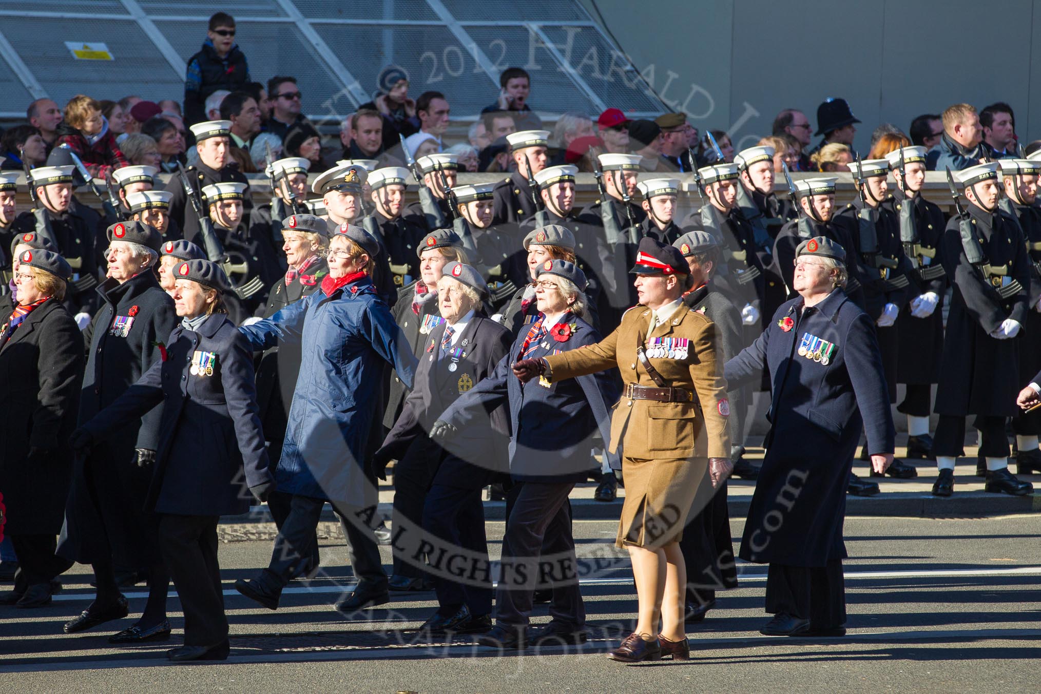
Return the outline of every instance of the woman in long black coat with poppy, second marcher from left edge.
[[[177,316],[174,300],[155,277],[161,242],[159,231],[141,222],[120,222],[108,228],[108,279],[98,286],[101,308],[83,334],[88,350],[81,425],[164,358],[163,342]],[[141,619],[109,640],[139,643],[170,636],[169,577],[156,548],[156,521],[142,510],[158,445],[156,409],[128,420],[118,436],[93,448],[73,471],[66,537],[58,554],[94,566],[97,593],[83,614],[65,625],[68,634],[126,617],[127,599],[119,584],[147,579],[149,598]],[[122,572],[122,582],[117,571]]]

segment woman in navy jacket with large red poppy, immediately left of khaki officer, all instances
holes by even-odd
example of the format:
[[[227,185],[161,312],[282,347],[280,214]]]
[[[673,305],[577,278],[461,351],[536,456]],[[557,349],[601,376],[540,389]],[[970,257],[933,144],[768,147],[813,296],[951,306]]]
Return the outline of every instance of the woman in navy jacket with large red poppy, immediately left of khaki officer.
[[[502,575],[496,594],[497,624],[478,639],[482,645],[524,648],[533,594],[553,590],[553,619],[534,645],[578,644],[586,640],[585,608],[578,576],[566,570],[547,581],[536,564],[575,566],[575,540],[567,496],[588,477],[593,437],[610,439],[608,406],[617,399],[605,372],[568,381],[522,383],[512,365],[522,359],[560,354],[595,344],[600,334],[583,318],[585,275],[573,262],[547,259],[536,275],[538,313],[522,330],[494,374],[460,397],[435,423],[436,431],[465,431],[484,412],[508,405],[513,426],[510,477],[503,538]],[[609,455],[610,457],[610,455]],[[616,462],[616,461],[615,461]],[[541,584],[541,585],[540,585]]]

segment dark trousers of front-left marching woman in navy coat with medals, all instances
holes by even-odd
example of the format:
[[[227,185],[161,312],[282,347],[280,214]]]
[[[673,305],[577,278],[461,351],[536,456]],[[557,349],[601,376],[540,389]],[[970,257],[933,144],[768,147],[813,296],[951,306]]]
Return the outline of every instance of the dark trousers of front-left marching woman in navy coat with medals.
[[[220,516],[159,516],[159,548],[184,613],[184,645],[215,646],[228,640],[221,566],[217,561]]]

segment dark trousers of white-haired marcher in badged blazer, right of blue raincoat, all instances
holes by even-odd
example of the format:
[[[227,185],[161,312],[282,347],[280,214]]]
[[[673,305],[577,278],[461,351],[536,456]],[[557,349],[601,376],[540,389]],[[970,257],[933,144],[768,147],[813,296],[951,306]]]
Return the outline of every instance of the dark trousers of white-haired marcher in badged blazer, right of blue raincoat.
[[[442,547],[431,550],[431,565],[447,570],[438,563],[451,558],[453,549],[460,547],[488,559],[488,541],[484,534],[484,505],[481,488],[460,489],[435,484],[427,493],[423,506],[423,529],[441,541]],[[443,549],[443,551],[440,551]],[[462,576],[447,580],[434,575],[438,612],[451,615],[466,606],[473,615],[491,614],[491,576]]]

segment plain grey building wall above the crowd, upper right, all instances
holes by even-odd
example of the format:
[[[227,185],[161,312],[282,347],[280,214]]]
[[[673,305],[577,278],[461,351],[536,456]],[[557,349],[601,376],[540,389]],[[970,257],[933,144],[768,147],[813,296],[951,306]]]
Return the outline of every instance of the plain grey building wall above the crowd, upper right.
[[[1041,138],[1041,0],[580,2],[666,102],[739,148],[782,108],[816,127],[827,97],[863,121],[862,155],[878,124],[906,132],[962,101],[1008,102],[1020,142]]]

